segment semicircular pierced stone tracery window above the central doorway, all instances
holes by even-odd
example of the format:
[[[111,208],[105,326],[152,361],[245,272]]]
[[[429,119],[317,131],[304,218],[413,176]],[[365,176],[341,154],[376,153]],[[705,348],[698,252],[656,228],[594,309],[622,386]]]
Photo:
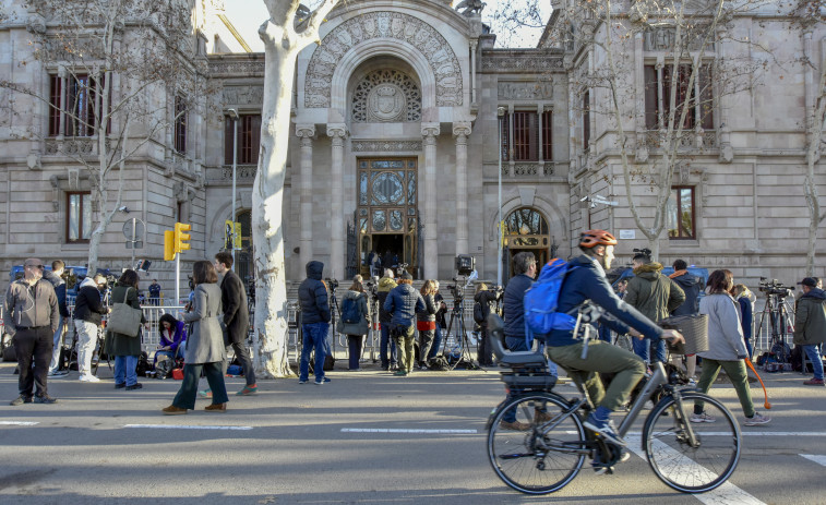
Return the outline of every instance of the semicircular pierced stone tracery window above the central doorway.
[[[370,72],[352,92],[352,122],[421,121],[419,85],[398,70]]]

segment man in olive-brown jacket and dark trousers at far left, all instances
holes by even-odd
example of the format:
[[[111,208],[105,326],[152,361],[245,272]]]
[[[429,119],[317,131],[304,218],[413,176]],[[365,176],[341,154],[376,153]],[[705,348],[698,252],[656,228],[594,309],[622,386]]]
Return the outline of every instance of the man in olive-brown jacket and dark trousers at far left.
[[[5,291],[3,313],[5,333],[12,337],[17,354],[17,390],[12,406],[23,404],[55,404],[49,396],[47,377],[55,332],[60,322],[58,297],[51,282],[43,278],[44,265],[36,257],[23,263],[23,278],[13,281]],[[34,371],[32,362],[34,361]],[[36,392],[33,389],[37,386]]]

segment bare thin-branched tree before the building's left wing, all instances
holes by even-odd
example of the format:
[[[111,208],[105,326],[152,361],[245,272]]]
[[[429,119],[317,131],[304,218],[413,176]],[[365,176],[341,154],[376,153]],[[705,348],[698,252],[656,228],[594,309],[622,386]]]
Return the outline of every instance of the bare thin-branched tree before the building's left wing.
[[[166,144],[166,129],[188,111],[158,97],[197,94],[205,62],[199,70],[192,60],[187,1],[33,0],[28,12],[32,60],[59,69],[63,77],[48,94],[7,80],[0,87],[48,105],[49,131],[32,124],[22,135],[52,145],[88,178],[96,207],[88,228],[94,272],[100,241],[122,205],[128,163],[144,156],[151,143]]]

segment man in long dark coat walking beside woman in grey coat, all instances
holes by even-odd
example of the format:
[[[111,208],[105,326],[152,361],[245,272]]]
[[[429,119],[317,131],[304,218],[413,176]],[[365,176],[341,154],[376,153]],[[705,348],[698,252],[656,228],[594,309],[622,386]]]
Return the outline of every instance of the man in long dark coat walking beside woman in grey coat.
[[[258,390],[255,384],[255,369],[252,366],[250,352],[247,349],[247,336],[250,330],[250,312],[247,305],[247,291],[238,275],[232,272],[232,255],[219,252],[215,255],[215,272],[223,276],[220,279],[220,303],[224,308],[225,342],[232,347],[236,358],[243,368],[247,385],[236,393],[239,396],[253,395]],[[227,362],[224,362],[224,374],[227,373]]]

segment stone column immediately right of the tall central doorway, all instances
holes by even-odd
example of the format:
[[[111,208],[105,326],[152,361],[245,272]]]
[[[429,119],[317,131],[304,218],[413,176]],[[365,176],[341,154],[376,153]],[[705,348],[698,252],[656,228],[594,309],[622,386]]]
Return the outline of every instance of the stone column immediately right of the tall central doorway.
[[[422,272],[424,278],[434,279],[439,275],[439,251],[436,239],[436,136],[439,123],[421,123],[421,136],[424,145],[424,255]],[[421,178],[419,179],[421,181]],[[421,202],[421,201],[420,201]]]

